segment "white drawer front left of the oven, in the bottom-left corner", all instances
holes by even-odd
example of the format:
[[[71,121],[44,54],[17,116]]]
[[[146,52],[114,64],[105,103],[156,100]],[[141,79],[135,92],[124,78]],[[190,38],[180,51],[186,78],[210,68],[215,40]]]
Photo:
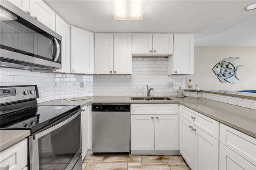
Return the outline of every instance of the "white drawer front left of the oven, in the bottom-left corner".
[[[24,139],[16,145],[0,152],[0,168],[2,169],[9,166],[10,170],[21,170],[27,165],[27,153],[28,140]]]

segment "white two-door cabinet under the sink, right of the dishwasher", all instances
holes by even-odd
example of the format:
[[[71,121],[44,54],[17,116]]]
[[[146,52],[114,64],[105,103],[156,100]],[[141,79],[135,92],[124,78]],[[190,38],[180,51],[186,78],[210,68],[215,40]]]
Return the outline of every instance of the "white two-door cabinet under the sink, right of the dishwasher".
[[[178,109],[168,111],[177,104],[152,105],[149,112],[147,104],[131,104],[131,150],[178,150]]]

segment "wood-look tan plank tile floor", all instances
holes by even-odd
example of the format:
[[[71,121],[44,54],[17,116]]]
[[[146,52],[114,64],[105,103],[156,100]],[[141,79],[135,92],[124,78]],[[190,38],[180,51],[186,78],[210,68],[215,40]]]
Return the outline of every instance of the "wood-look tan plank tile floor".
[[[82,170],[190,170],[180,155],[86,155]]]

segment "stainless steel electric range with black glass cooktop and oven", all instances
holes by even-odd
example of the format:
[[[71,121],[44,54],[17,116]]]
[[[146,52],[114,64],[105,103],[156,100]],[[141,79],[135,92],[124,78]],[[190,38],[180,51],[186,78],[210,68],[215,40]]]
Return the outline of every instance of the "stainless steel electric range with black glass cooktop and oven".
[[[36,85],[0,87],[0,129],[30,130],[30,170],[82,169],[81,108],[38,106]]]

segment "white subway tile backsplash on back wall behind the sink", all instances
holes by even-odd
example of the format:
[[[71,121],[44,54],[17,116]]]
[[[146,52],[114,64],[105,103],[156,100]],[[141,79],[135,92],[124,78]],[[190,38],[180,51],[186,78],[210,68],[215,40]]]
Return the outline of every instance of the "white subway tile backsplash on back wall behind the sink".
[[[151,96],[172,96],[185,76],[168,76],[168,58],[132,58],[132,75],[94,75],[94,96],[145,96],[146,85],[154,88]],[[174,88],[168,87],[174,83]]]

